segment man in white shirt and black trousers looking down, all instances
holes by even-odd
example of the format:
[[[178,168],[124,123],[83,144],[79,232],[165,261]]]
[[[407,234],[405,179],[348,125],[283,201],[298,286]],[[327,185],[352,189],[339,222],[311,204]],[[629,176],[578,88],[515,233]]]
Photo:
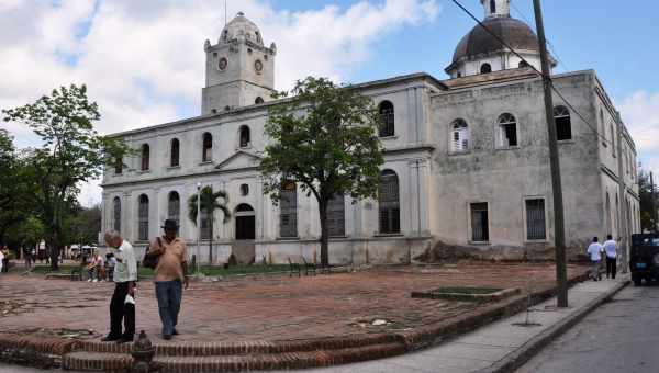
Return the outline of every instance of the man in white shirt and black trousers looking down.
[[[101,341],[118,343],[132,342],[135,337],[135,281],[137,280],[137,261],[133,246],[123,239],[116,230],[105,233],[105,242],[113,248],[114,258],[114,293],[110,301],[110,332]],[[121,330],[123,320],[124,331]]]

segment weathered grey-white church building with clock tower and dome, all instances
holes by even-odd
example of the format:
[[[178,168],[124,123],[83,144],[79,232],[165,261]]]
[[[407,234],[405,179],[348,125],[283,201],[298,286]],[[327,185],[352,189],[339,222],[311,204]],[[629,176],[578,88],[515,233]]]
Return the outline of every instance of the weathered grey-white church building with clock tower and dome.
[[[458,43],[446,79],[418,72],[354,86],[386,124],[384,165],[377,200],[334,199],[332,264],[406,263],[428,250],[554,258],[543,80],[533,69],[540,69],[538,39],[511,16],[510,0],[481,3],[483,25],[524,60],[477,25]],[[257,263],[320,261],[315,199],[295,184],[278,205],[264,195],[264,125],[279,104],[270,97],[277,46],[266,46],[265,36],[238,13],[216,44],[205,42],[200,116],[113,135],[137,154],[105,170],[103,230],[116,229],[143,250],[174,218],[200,262],[224,263],[232,252]],[[639,231],[637,150],[594,70],[552,79],[560,92],[554,125],[566,239],[574,258],[593,236]],[[212,231],[210,216],[202,214],[199,229],[188,218],[188,200],[206,185],[226,191],[232,211],[227,223],[215,213]]]

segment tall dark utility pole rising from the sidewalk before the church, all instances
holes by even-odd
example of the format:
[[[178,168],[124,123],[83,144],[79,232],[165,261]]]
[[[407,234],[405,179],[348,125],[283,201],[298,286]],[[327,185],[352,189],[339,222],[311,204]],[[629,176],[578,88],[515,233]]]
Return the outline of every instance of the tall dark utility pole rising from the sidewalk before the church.
[[[562,204],[562,184],[560,182],[560,163],[558,159],[558,144],[556,125],[554,123],[554,99],[551,95],[551,70],[547,41],[545,39],[545,25],[540,0],[533,0],[535,9],[536,29],[540,44],[540,59],[543,61],[543,83],[545,86],[545,114],[547,133],[549,134],[549,169],[551,171],[551,190],[554,196],[554,241],[556,246],[556,282],[558,285],[558,307],[568,307],[568,269],[566,261],[566,225]]]

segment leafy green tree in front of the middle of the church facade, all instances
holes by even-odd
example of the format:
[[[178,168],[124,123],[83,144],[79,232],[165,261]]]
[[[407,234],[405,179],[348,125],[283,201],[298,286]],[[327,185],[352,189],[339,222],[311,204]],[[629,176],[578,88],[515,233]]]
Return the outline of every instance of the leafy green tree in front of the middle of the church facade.
[[[273,105],[266,123],[271,144],[260,170],[273,203],[282,187],[295,182],[319,202],[321,264],[330,265],[327,207],[335,195],[354,201],[376,197],[383,163],[378,127],[382,121],[372,101],[350,87],[326,78],[298,81],[289,101]],[[288,97],[287,92],[275,94]]]

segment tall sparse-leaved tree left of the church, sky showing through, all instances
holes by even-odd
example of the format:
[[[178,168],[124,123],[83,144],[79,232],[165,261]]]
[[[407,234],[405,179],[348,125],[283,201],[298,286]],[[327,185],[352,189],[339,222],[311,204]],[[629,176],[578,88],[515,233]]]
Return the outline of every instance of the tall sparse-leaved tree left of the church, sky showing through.
[[[129,149],[93,129],[92,122],[101,115],[97,103],[88,100],[85,86],[60,87],[32,104],[2,112],[5,122],[29,125],[43,140],[27,163],[36,185],[33,199],[46,228],[51,265],[57,270],[64,213],[79,193],[77,185],[100,176],[103,166],[122,159]]]

